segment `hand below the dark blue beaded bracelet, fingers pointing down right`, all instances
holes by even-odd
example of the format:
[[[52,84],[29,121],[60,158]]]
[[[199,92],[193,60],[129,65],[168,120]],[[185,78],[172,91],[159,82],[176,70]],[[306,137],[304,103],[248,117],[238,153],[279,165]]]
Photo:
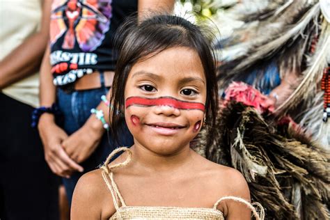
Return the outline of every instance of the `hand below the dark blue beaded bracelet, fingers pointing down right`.
[[[38,129],[45,150],[45,159],[53,173],[61,177],[70,178],[74,171],[82,172],[84,168],[74,162],[61,143],[68,138],[68,135],[54,123],[54,119],[47,120],[47,117],[53,117],[44,113],[40,118]]]

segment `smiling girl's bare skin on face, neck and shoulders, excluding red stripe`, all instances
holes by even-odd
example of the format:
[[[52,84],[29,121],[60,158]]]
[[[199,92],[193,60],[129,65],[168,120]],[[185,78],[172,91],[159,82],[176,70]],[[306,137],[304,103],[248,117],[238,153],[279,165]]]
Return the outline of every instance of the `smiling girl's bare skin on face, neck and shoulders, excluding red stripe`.
[[[132,96],[170,96],[205,104],[205,85],[198,54],[185,47],[175,47],[133,66],[125,86],[125,100]],[[162,104],[132,105],[125,109],[125,120],[134,136],[134,146],[130,148],[132,161],[113,173],[127,205],[210,208],[223,196],[250,200],[241,173],[210,162],[189,148],[189,142],[200,130],[198,127],[196,131],[196,123],[203,116],[200,110]],[[153,127],[155,123],[159,125],[157,129]],[[180,129],[166,133],[173,124]],[[124,153],[112,164],[123,162],[126,157]],[[251,219],[250,210],[240,203],[223,201],[218,209],[226,219]],[[71,219],[109,219],[114,212],[101,170],[83,175],[74,189]]]

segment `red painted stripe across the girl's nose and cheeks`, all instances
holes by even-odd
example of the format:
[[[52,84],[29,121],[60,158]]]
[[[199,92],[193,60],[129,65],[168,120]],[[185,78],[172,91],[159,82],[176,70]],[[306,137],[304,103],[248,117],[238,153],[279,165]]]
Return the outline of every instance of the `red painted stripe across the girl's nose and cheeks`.
[[[186,102],[177,100],[173,97],[157,97],[155,99],[150,99],[146,97],[128,97],[126,99],[125,107],[126,109],[132,105],[138,105],[140,107],[152,107],[155,105],[164,105],[173,107],[175,109],[184,110],[201,110],[205,111],[205,105],[201,102]]]

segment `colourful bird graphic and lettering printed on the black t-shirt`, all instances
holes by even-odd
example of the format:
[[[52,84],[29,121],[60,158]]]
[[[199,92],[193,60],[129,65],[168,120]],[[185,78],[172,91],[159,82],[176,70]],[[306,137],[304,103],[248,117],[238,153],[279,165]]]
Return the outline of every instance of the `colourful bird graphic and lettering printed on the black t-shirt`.
[[[53,1],[50,61],[56,86],[93,72],[98,58],[94,51],[109,31],[111,17],[111,0]]]

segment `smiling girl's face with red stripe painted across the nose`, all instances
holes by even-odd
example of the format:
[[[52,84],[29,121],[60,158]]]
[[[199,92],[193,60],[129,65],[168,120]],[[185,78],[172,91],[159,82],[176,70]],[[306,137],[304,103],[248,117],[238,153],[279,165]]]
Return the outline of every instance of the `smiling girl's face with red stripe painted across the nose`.
[[[125,120],[134,144],[170,155],[198,134],[206,79],[197,52],[173,47],[133,65],[125,86]]]

